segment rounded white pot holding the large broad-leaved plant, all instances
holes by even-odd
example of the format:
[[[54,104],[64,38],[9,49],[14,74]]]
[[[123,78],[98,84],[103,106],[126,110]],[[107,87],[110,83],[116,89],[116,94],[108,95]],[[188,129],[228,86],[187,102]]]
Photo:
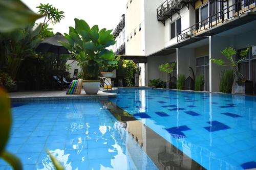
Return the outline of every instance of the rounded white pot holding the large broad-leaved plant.
[[[86,91],[86,94],[97,94],[100,87],[100,81],[98,80],[83,80],[82,88]]]

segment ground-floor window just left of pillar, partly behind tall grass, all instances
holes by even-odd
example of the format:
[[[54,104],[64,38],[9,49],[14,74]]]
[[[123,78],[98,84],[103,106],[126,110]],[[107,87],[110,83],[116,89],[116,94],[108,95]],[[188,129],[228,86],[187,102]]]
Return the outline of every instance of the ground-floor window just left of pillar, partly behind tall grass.
[[[198,57],[196,75],[204,75],[204,91],[209,91],[209,56]]]

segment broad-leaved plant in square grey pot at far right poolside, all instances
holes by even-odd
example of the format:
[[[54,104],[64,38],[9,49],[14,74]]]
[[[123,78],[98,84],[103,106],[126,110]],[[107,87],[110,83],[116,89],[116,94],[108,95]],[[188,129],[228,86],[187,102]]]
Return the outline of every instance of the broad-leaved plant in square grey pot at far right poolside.
[[[239,54],[242,59],[236,61],[234,57],[237,54],[237,51],[234,48],[225,48],[221,53],[226,57],[228,62],[224,62],[223,59],[210,59],[212,62],[216,63],[217,65],[222,66],[231,66],[234,72],[234,79],[232,85],[232,93],[240,93],[240,94],[252,94],[253,93],[253,82],[246,80],[244,76],[241,74],[238,64],[243,61],[248,54],[249,46],[246,50],[242,50]]]

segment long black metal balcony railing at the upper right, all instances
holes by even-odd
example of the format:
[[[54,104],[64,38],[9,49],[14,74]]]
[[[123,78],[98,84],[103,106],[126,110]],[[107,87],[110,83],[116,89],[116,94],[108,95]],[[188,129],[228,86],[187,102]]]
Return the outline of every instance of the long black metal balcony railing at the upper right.
[[[191,36],[196,35],[197,33],[200,33],[202,31],[215,27],[226,20],[230,20],[234,17],[238,17],[241,14],[244,14],[247,11],[255,8],[256,8],[255,0],[238,0],[236,3],[230,6],[228,5],[228,2],[227,2],[227,4],[223,6],[220,12],[217,12],[216,14],[211,15],[208,18],[178,33],[177,41],[180,42],[184,39],[191,38]]]

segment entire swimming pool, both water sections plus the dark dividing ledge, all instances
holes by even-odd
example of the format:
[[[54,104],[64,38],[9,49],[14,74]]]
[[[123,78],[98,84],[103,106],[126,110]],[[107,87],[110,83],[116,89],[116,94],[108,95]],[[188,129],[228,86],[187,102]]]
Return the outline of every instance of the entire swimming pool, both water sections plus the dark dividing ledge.
[[[256,98],[119,89],[110,101],[17,103],[7,150],[25,169],[256,167]],[[9,166],[0,159],[0,169]]]

